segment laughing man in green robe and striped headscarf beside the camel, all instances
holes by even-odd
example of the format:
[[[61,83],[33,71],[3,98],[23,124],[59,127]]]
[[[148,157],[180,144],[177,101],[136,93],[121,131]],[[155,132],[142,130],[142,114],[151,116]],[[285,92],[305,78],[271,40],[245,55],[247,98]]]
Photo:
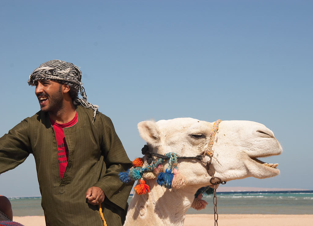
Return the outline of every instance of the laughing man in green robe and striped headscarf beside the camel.
[[[99,204],[108,225],[122,225],[132,184],[118,173],[131,162],[110,118],[87,102],[81,76],[60,60],[33,71],[40,111],[0,138],[0,173],[33,154],[47,225],[103,225]]]

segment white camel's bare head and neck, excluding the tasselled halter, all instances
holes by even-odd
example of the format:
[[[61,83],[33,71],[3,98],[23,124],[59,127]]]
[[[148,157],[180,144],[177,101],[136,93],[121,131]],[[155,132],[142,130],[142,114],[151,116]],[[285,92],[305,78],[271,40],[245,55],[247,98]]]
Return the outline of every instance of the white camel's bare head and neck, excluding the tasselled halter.
[[[142,121],[138,123],[140,136],[149,150],[164,155],[176,152],[179,156],[191,157],[203,153],[210,142],[213,123],[192,118]],[[212,139],[212,138],[211,138]],[[259,157],[280,155],[282,148],[271,130],[252,121],[221,121],[213,137],[212,161],[214,177],[222,181],[246,177],[267,178],[280,173],[277,163],[265,163]],[[157,157],[153,157],[155,161]],[[191,207],[195,193],[200,187],[213,185],[212,178],[203,162],[210,160],[205,155],[202,161],[180,159],[178,167],[186,178],[183,188],[166,188],[156,183],[156,178],[145,178],[150,192],[131,199],[125,226],[132,225],[183,225],[185,214]],[[147,166],[147,157],[143,166]],[[164,169],[168,167],[163,162]]]

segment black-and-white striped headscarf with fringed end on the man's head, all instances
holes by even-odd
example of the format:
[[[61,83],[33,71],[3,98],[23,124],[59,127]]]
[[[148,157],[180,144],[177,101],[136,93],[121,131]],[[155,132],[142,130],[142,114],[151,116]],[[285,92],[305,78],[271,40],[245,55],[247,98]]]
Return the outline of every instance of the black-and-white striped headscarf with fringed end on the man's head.
[[[94,110],[93,121],[95,121],[96,114],[98,113],[98,105],[93,105],[87,102],[87,95],[81,82],[82,73],[80,69],[69,62],[62,60],[49,60],[36,68],[29,76],[28,85],[34,86],[35,82],[40,79],[54,80],[60,83],[69,85],[71,89],[80,91],[83,99],[75,97],[73,99],[74,105],[81,105],[85,108]]]

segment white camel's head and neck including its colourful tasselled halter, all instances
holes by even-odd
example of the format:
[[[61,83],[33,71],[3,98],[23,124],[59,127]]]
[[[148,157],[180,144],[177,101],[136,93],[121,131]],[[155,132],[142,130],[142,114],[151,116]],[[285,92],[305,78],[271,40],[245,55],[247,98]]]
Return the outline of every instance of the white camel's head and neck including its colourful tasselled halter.
[[[214,190],[216,177],[229,181],[274,177],[280,172],[278,164],[258,160],[279,155],[282,149],[273,132],[256,122],[214,124],[177,118],[142,121],[138,129],[147,142],[142,150],[145,157],[135,159],[134,167],[119,174],[123,182],[139,180],[135,187],[138,195],[134,194],[126,216],[127,226],[182,226],[188,208],[200,210],[208,204],[202,194]]]

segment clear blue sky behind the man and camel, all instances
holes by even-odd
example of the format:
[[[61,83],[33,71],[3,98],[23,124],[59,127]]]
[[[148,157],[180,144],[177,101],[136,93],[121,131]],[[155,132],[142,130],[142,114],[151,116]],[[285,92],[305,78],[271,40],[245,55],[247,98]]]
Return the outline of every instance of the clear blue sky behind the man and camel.
[[[223,186],[313,190],[312,1],[1,1],[0,136],[39,110],[40,64],[80,67],[88,101],[109,116],[131,160],[137,124],[249,120],[283,147],[280,175]],[[40,196],[34,158],[0,175],[0,194]]]

